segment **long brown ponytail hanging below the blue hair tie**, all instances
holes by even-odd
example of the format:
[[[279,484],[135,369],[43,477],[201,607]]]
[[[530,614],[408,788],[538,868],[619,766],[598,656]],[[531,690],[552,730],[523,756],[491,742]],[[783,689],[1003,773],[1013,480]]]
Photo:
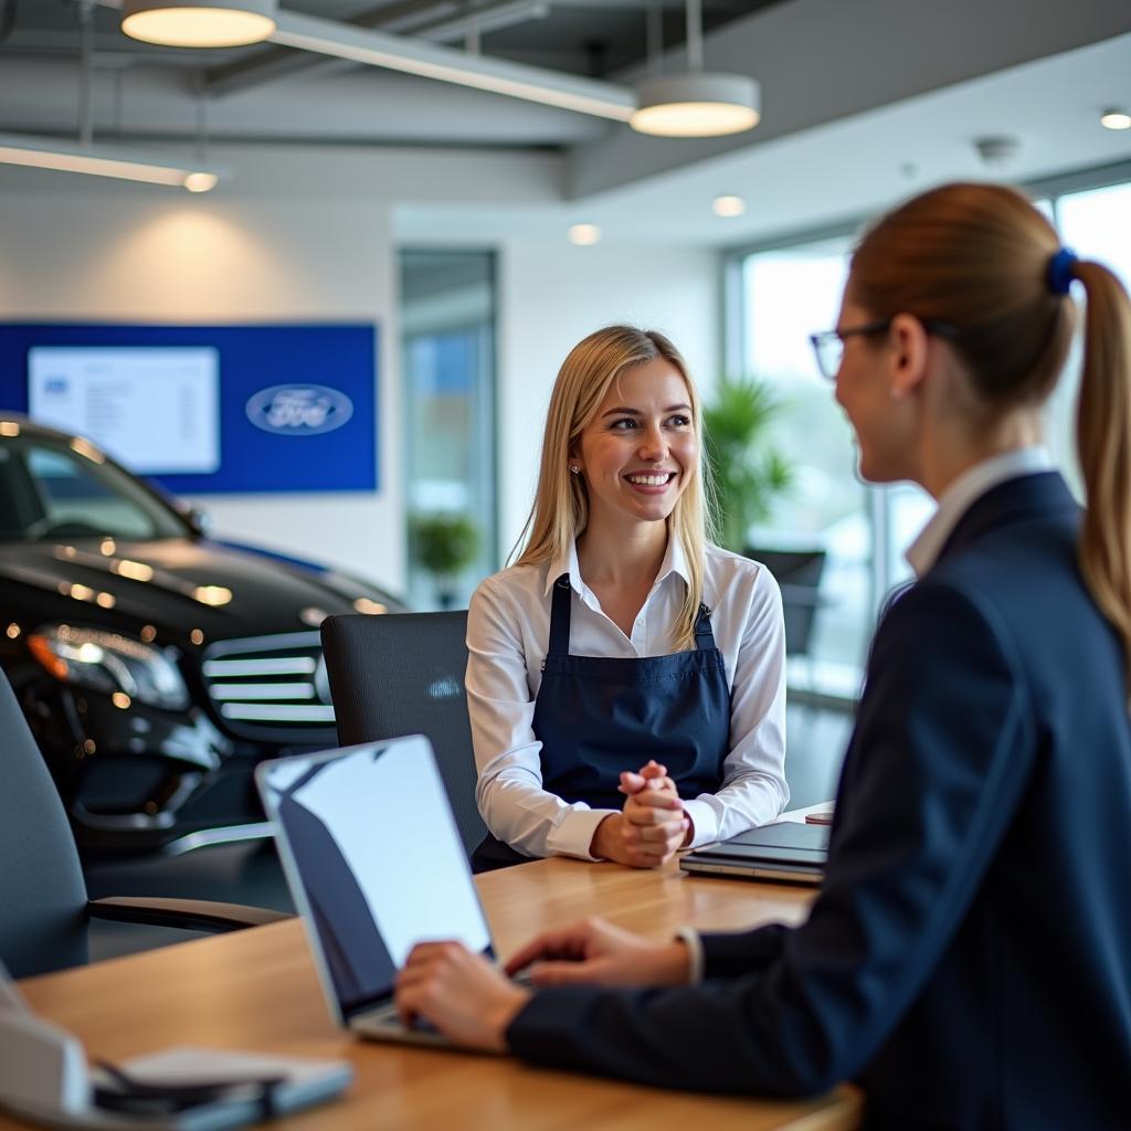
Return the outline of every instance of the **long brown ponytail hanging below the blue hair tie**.
[[[1076,439],[1088,508],[1080,568],[1129,657],[1131,696],[1131,301],[1100,264],[1073,271],[1088,295]]]

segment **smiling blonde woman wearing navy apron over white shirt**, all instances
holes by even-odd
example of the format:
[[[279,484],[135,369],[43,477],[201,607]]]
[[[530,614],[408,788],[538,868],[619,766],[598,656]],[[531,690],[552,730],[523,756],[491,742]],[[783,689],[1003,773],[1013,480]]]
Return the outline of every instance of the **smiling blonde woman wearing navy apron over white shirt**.
[[[784,808],[780,595],[707,542],[706,510],[683,359],[651,330],[589,335],[553,388],[526,547],[468,611],[476,870],[657,866]]]

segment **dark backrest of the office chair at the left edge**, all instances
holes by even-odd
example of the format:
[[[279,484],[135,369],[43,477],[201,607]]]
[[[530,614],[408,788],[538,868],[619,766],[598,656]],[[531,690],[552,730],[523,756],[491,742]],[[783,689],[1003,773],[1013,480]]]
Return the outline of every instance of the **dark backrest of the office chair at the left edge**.
[[[86,923],[59,791],[0,672],[0,960],[17,978],[85,962]]]

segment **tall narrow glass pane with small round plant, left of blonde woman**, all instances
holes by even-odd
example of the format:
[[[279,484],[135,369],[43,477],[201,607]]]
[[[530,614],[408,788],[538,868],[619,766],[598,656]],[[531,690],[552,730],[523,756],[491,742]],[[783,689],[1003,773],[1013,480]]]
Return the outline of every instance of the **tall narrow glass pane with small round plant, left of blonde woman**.
[[[408,593],[416,608],[464,606],[495,560],[494,258],[400,258]],[[460,556],[467,536],[476,544]],[[452,561],[438,569],[425,546]]]

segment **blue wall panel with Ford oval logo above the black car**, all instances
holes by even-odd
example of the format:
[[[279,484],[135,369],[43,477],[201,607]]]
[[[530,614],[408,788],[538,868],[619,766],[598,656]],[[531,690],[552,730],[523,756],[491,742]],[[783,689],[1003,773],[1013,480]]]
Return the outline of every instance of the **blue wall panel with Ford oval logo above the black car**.
[[[208,438],[213,444],[208,461],[201,458],[192,468],[185,463],[178,472],[154,473],[167,491],[196,497],[378,489],[380,354],[372,323],[131,326],[0,320],[0,408],[27,412],[35,357],[49,359],[57,351],[89,356],[103,349],[146,363],[138,381],[161,386],[154,391],[165,402],[161,420],[174,422],[170,434],[178,443]],[[211,395],[195,394],[187,403],[181,386],[163,374],[187,353],[205,351],[215,357],[208,371]],[[162,356],[164,369],[148,365],[148,360]],[[66,377],[58,366],[36,370],[34,377],[36,397],[42,392],[52,406],[78,396],[74,381],[69,391],[45,387],[52,378]],[[127,395],[119,383],[111,390],[115,398]],[[164,433],[155,430],[155,434]],[[162,459],[170,451],[158,446]]]

